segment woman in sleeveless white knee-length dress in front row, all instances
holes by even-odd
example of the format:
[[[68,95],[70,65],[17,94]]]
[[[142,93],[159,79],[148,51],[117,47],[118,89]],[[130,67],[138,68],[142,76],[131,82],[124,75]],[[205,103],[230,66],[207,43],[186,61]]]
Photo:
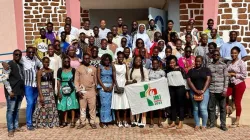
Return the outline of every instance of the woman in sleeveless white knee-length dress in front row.
[[[117,125],[118,127],[128,127],[127,123],[127,109],[129,109],[129,103],[126,94],[124,93],[124,87],[128,79],[128,68],[124,60],[124,53],[119,51],[117,53],[117,63],[114,65],[116,69],[116,87],[112,93],[111,109],[116,111]],[[120,118],[120,112],[123,110],[123,122]]]

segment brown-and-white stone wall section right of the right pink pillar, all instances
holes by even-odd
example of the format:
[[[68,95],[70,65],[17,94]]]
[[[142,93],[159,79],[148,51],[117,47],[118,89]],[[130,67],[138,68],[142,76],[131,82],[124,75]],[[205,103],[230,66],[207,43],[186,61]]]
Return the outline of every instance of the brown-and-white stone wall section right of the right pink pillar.
[[[218,29],[224,41],[229,39],[229,31],[238,31],[238,41],[250,54],[250,0],[219,0]],[[250,62],[248,76],[250,76]]]

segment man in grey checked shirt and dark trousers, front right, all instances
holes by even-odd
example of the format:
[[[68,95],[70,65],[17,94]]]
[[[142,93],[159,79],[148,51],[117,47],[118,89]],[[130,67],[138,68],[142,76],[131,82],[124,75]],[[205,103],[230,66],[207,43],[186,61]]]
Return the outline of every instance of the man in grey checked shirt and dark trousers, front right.
[[[216,105],[219,104],[220,129],[227,131],[226,127],[226,92],[228,87],[227,65],[220,60],[220,52],[213,52],[213,61],[208,64],[211,70],[211,83],[209,86],[210,98],[208,104],[209,128],[215,127]]]

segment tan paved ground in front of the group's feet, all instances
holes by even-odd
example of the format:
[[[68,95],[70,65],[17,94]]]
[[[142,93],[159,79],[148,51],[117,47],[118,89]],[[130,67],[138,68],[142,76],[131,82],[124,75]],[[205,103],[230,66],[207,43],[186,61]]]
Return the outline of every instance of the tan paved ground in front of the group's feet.
[[[25,128],[25,127],[24,127]],[[230,128],[227,132],[218,128],[204,132],[194,131],[192,126],[184,125],[182,130],[158,128],[117,128],[110,126],[92,130],[89,126],[76,128],[47,128],[35,131],[15,133],[14,138],[8,138],[7,129],[0,128],[0,139],[15,140],[250,140],[250,126]]]

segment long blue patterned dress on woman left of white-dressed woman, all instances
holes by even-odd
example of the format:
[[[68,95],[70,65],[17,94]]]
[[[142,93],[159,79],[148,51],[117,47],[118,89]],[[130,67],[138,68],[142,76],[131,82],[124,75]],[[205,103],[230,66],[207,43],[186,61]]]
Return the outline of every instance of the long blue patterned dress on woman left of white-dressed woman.
[[[110,87],[113,82],[112,78],[112,67],[110,66],[109,70],[106,70],[103,65],[100,64],[101,69],[101,80],[105,87]],[[101,122],[108,123],[113,121],[113,114],[111,111],[111,101],[112,101],[112,92],[103,91],[102,87],[100,88],[100,102],[101,102]]]

